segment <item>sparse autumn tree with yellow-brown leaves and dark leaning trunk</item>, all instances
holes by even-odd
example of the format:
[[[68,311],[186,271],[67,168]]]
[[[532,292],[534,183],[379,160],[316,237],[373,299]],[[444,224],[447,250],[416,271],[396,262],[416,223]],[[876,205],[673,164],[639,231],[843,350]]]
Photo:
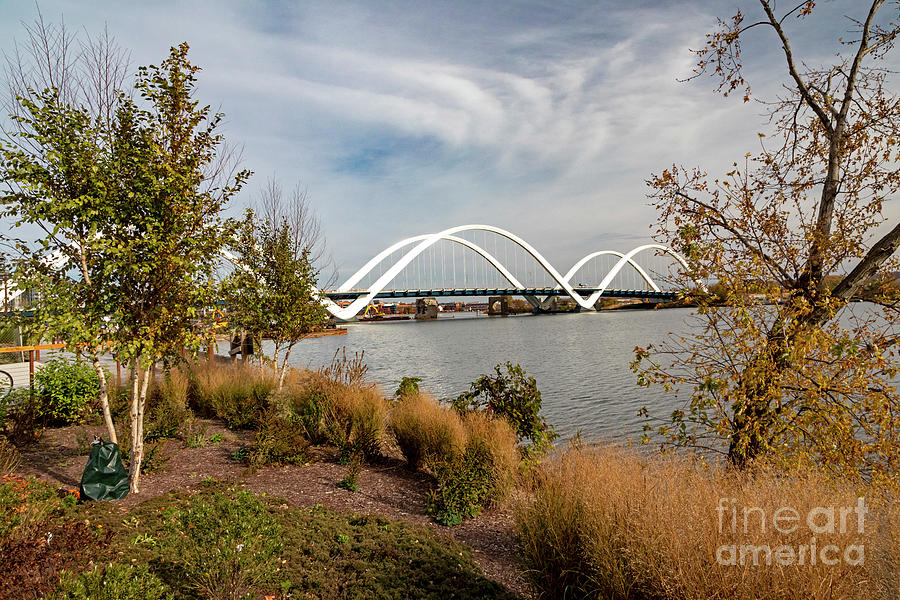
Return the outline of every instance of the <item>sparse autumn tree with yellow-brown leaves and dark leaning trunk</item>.
[[[767,33],[780,46],[786,81],[762,103],[761,150],[718,177],[673,166],[648,182],[661,241],[688,257],[690,278],[719,282],[724,305],[700,298],[693,335],[637,349],[634,367],[641,383],[690,390],[658,430],[669,441],[723,450],[738,467],[811,459],[897,483],[898,295],[885,284],[900,224],[882,212],[900,190],[897,12],[854,5],[842,51],[815,66],[789,39],[815,2],[758,4],[758,18],[739,12],[707,36],[696,72],[749,101],[742,41]],[[874,304],[855,310],[863,291]]]

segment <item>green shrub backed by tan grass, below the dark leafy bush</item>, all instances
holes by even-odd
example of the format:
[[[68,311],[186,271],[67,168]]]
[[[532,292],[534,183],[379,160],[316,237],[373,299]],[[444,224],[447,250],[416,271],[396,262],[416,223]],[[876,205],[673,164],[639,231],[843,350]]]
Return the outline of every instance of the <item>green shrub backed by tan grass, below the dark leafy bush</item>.
[[[465,449],[432,454],[425,465],[436,486],[428,493],[427,509],[438,523],[457,525],[509,493],[518,465],[516,438],[506,421],[472,412],[464,420]]]

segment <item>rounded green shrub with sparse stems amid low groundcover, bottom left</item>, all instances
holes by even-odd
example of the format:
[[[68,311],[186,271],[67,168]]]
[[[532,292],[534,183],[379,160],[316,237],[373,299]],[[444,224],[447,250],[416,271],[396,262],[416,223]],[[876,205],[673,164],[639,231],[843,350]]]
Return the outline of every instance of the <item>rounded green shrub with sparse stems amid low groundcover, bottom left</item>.
[[[163,560],[205,598],[243,598],[280,566],[281,528],[246,490],[176,509]]]

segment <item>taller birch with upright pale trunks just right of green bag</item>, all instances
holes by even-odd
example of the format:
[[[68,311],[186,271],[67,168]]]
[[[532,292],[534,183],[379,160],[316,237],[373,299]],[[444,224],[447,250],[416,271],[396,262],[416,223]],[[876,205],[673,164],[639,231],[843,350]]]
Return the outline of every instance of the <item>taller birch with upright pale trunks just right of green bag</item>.
[[[132,491],[152,367],[210,343],[202,311],[215,300],[218,256],[236,227],[222,209],[250,175],[223,162],[229,154],[216,133],[222,115],[193,97],[199,70],[186,43],[159,66],[139,69],[134,87],[145,108],[120,97],[112,145],[121,202],[109,293],[117,307],[115,347],[131,364]]]

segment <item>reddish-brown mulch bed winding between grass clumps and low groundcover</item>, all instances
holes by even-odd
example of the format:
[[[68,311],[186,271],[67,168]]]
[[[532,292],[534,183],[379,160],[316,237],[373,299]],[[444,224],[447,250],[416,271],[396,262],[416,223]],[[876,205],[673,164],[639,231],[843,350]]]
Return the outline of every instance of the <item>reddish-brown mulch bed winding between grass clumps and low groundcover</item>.
[[[202,448],[185,448],[181,440],[161,442],[155,458],[159,464],[157,471],[141,477],[139,494],[129,494],[119,502],[123,510],[207,478],[239,483],[256,493],[282,497],[301,508],[322,505],[330,510],[377,514],[426,525],[472,548],[485,576],[523,598],[530,597],[518,563],[519,550],[510,512],[503,508],[490,509],[455,527],[435,523],[425,513],[428,476],[407,468],[396,450],[388,449],[388,456],[378,465],[363,466],[358,478],[359,491],[353,493],[337,486],[347,474],[347,467],[337,463],[333,449],[313,449],[312,462],[303,466],[250,472],[231,455],[253,443],[253,432],[233,432],[214,421],[204,421],[204,424],[207,437],[218,433],[223,441]],[[90,453],[90,440],[94,434],[104,432],[102,426],[48,430],[39,442],[20,449],[19,472],[77,489]]]

